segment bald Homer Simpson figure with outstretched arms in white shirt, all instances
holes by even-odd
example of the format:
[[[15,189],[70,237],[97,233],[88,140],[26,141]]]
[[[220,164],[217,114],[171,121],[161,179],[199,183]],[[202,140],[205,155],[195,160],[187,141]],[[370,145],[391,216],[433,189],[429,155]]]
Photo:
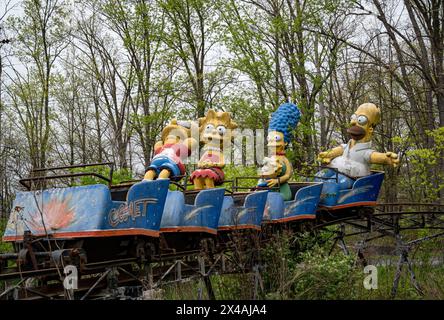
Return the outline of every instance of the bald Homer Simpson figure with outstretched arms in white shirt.
[[[340,189],[348,189],[353,186],[354,178],[370,174],[370,164],[384,164],[393,167],[398,166],[398,155],[394,152],[376,152],[372,149],[371,139],[375,126],[381,119],[380,109],[373,103],[361,104],[351,116],[351,127],[347,130],[351,139],[347,144],[321,152],[318,160],[331,168],[337,168],[339,174]],[[335,172],[324,169],[318,173],[318,177],[330,178]]]

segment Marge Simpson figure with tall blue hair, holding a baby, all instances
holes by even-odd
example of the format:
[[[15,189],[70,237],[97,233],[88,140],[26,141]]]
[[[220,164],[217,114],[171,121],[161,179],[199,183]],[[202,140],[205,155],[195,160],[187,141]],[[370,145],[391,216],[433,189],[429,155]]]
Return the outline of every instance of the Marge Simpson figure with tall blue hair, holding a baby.
[[[267,136],[269,158],[264,158],[264,167],[259,171],[263,180],[259,180],[258,186],[272,188],[279,185],[279,192],[285,201],[291,200],[288,180],[293,174],[293,167],[285,156],[285,148],[300,117],[301,112],[293,103],[280,105],[271,115]]]

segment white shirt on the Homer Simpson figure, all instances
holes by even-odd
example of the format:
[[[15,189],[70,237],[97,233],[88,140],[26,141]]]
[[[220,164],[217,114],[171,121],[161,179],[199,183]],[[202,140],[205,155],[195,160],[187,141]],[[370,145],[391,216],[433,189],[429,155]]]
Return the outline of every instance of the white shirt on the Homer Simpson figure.
[[[351,141],[342,145],[344,148],[342,156],[334,158],[328,166],[337,168],[339,172],[354,178],[368,176],[370,174],[370,157],[374,152],[371,148],[372,143],[370,141],[356,143],[351,148]]]

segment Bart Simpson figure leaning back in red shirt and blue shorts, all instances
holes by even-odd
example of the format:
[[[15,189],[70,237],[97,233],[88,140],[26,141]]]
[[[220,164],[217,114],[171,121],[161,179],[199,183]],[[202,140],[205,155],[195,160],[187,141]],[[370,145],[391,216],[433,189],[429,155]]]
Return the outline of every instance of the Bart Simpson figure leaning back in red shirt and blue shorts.
[[[183,161],[197,146],[196,139],[191,137],[193,125],[192,122],[173,119],[162,130],[162,140],[154,145],[155,156],[147,168],[144,180],[174,180],[185,174]]]

